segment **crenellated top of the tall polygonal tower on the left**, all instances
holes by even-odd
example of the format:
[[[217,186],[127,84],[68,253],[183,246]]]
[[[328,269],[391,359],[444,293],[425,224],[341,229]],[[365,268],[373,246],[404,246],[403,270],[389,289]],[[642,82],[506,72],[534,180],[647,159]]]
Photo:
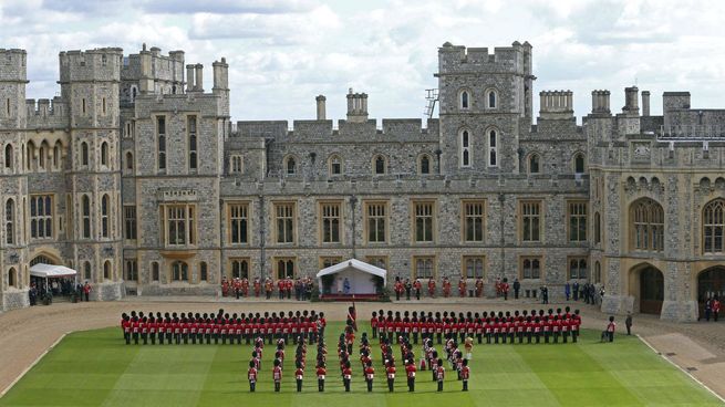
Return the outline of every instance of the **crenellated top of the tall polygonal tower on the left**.
[[[118,81],[122,58],[120,48],[63,51],[59,54],[60,83]]]

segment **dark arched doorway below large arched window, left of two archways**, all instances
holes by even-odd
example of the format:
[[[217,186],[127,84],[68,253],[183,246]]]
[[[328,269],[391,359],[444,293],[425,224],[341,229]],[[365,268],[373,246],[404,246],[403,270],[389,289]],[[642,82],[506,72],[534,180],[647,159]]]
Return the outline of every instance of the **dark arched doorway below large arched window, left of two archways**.
[[[630,271],[630,295],[634,298],[635,311],[643,314],[662,312],[664,301],[664,275],[660,269],[644,263]]]

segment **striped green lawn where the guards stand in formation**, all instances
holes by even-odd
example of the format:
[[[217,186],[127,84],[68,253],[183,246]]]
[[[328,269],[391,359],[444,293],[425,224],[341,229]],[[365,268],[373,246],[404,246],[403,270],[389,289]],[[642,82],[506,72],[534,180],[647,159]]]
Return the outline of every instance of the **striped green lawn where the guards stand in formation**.
[[[417,375],[414,395],[407,393],[403,375],[395,380],[396,393],[389,394],[375,346],[374,393],[366,393],[360,366],[353,364],[352,393],[345,394],[335,374],[341,330],[341,323],[327,330],[323,394],[317,392],[310,366],[303,393],[294,393],[291,356],[282,393],[275,394],[269,347],[257,393],[249,394],[248,346],[126,346],[118,328],[106,328],[68,335],[0,399],[0,406],[722,406],[638,338],[618,336],[613,344],[601,344],[599,333],[589,331],[578,344],[476,346],[468,393],[460,392],[452,372],[445,392],[436,393],[424,372]],[[395,353],[400,354],[397,347]],[[288,348],[291,354],[293,348]],[[314,356],[310,347],[309,365]]]

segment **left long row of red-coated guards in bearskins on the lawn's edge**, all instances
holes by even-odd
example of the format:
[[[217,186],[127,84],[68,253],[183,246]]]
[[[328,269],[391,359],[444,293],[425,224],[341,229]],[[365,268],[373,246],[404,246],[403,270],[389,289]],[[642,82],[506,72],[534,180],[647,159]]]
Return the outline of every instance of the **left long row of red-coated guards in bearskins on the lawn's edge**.
[[[303,338],[315,343],[324,335],[324,313],[315,311],[289,311],[229,314],[219,310],[214,313],[164,313],[132,311],[121,316],[121,327],[126,344],[245,344],[261,340],[272,344],[275,340]]]

